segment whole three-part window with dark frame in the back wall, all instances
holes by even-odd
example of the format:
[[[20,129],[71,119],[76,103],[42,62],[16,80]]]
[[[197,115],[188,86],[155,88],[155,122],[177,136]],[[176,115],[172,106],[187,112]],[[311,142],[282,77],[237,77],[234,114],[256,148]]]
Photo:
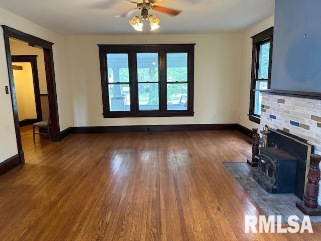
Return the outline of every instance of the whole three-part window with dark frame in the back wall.
[[[98,46],[105,118],[194,115],[195,44]]]

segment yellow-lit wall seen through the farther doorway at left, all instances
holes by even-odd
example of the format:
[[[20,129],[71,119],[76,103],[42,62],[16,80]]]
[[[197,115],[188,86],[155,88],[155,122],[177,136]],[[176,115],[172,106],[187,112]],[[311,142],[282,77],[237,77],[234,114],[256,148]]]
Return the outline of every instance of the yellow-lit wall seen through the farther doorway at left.
[[[36,119],[36,101],[31,63],[13,63],[23,70],[14,70],[19,121]]]

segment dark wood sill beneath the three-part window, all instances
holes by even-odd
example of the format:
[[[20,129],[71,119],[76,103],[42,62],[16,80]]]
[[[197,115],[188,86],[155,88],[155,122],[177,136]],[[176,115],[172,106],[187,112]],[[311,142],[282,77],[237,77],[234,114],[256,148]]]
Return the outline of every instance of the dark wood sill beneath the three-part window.
[[[140,112],[140,113],[103,113],[104,118],[125,118],[125,117],[175,117],[175,116],[194,116],[194,112]]]

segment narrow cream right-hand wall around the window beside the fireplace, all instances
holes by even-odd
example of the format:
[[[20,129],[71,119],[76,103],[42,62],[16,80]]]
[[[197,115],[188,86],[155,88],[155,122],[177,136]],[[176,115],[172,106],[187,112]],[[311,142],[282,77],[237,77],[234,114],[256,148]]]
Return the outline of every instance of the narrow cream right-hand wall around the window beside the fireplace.
[[[249,129],[259,128],[259,125],[248,118],[250,108],[252,39],[251,37],[274,26],[274,16],[248,29],[242,34],[241,71],[238,98],[238,123]]]

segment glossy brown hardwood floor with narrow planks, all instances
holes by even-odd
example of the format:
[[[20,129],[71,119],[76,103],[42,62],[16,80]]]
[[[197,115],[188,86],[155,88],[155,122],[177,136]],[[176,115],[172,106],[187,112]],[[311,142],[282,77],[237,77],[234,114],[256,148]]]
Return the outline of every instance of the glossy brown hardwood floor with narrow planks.
[[[0,240],[320,240],[244,233],[263,215],[223,162],[251,153],[237,131],[71,135],[22,128],[26,164],[0,177]]]

